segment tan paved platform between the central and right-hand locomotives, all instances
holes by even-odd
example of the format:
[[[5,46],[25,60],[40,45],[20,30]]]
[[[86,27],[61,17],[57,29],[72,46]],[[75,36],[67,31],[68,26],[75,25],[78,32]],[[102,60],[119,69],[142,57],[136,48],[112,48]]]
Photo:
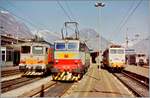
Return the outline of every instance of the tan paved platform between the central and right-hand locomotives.
[[[83,79],[75,83],[63,96],[80,97],[133,97],[132,93],[120,81],[104,69],[90,66]]]

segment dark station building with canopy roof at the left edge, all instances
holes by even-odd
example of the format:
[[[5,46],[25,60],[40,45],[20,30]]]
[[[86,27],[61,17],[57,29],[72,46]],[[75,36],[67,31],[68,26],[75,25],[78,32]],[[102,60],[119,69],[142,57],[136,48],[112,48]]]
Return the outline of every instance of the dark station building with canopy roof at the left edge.
[[[12,66],[18,65],[19,63],[19,47],[18,43],[24,43],[26,40],[24,39],[17,39],[10,34],[1,34],[0,35],[1,44],[1,66]]]

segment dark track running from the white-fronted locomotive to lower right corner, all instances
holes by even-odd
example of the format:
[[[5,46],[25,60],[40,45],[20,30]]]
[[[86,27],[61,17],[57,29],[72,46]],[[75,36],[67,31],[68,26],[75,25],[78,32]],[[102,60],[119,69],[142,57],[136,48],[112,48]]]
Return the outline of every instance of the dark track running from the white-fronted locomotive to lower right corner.
[[[149,96],[149,79],[131,73],[129,71],[122,71],[122,73],[114,73],[129,90],[133,92],[136,97],[148,97]]]

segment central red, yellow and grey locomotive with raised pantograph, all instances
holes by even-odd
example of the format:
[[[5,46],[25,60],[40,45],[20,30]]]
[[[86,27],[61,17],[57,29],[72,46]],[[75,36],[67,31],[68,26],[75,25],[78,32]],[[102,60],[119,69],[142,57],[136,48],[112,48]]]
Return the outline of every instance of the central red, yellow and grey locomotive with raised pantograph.
[[[65,24],[77,25],[76,22]],[[64,38],[62,35],[62,40],[54,43],[54,65],[51,70],[53,80],[78,81],[90,65],[89,49],[85,42],[79,40],[79,33],[75,33],[75,38]]]

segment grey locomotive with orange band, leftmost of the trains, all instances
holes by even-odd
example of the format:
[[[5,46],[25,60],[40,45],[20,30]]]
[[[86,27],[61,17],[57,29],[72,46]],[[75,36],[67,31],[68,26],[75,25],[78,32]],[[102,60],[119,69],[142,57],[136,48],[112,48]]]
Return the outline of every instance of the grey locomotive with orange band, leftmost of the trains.
[[[21,45],[19,69],[24,75],[43,75],[53,63],[53,48],[43,42],[27,42]]]

